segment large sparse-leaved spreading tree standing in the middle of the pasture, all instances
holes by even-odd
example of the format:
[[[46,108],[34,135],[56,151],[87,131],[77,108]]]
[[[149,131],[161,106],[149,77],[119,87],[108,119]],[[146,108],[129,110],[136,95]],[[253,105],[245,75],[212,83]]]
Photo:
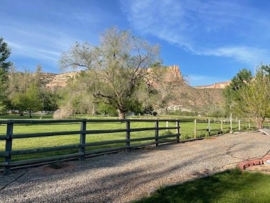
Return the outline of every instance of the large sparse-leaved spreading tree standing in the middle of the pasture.
[[[60,67],[82,70],[87,78],[87,91],[93,103],[105,103],[125,118],[130,103],[145,100],[138,92],[147,92],[147,68],[159,64],[159,46],[152,46],[126,30],[110,28],[100,38],[100,44],[75,43],[62,54]],[[149,78],[148,78],[149,79]]]

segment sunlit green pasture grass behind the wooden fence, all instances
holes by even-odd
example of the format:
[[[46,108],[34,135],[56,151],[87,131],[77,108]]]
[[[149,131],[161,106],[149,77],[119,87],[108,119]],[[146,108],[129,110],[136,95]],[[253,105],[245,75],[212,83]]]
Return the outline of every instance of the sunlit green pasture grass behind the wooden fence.
[[[1,118],[10,118],[8,116]],[[21,117],[19,117],[21,118]],[[27,118],[24,116],[24,118]],[[50,117],[45,117],[50,118]],[[99,118],[99,117],[98,117]],[[17,118],[15,118],[17,119]],[[95,117],[95,119],[97,119]],[[106,119],[106,118],[100,118]],[[111,119],[111,118],[110,118]],[[115,118],[116,119],[116,118]],[[152,119],[156,119],[156,117],[152,117]],[[176,119],[175,117],[173,119]],[[181,121],[181,119],[179,119]],[[202,121],[204,123],[197,123],[197,137],[208,136],[208,123],[207,121]],[[160,122],[159,127],[165,127],[166,122]],[[175,127],[175,122],[169,122],[169,127]],[[180,123],[181,129],[181,140],[192,139],[194,138],[194,120],[186,120],[181,121]],[[131,128],[143,128],[143,127],[155,127],[154,122],[131,122]],[[217,134],[220,130],[221,124],[220,122],[211,123],[210,129],[211,134]],[[234,124],[233,127],[237,127],[237,124]],[[117,129],[125,129],[125,123],[116,122],[107,123],[106,121],[102,123],[96,122],[88,122],[87,130],[117,130]],[[229,131],[229,123],[223,124],[223,132]],[[13,127],[13,134],[25,134],[25,133],[39,133],[39,132],[62,132],[62,131],[78,131],[80,130],[80,122],[78,123],[49,123],[49,124],[15,124]],[[149,137],[154,136],[154,130],[151,131],[143,131],[143,132],[131,132],[131,139],[141,138],[141,137]],[[166,130],[161,130],[159,134],[165,135],[168,133],[175,134],[176,130],[170,130],[169,132]],[[6,134],[6,125],[0,125],[0,136],[4,136]],[[93,143],[98,141],[111,141],[111,140],[124,140],[125,132],[118,133],[106,133],[106,134],[87,134],[87,143]],[[175,138],[167,138],[166,140],[170,141]],[[141,144],[141,143],[152,143],[154,140],[149,141],[134,141],[131,145]],[[35,149],[35,148],[46,148],[46,147],[54,147],[54,146],[62,146],[62,145],[75,145],[80,143],[80,134],[74,135],[62,135],[62,136],[42,136],[28,139],[13,139],[12,140],[12,150],[26,150],[26,149]],[[5,151],[6,141],[0,141],[0,151]],[[125,143],[116,143],[116,144],[107,144],[107,145],[98,145],[87,148],[87,150],[95,150],[99,148],[109,148],[116,146],[124,146]],[[62,150],[57,152],[44,152],[44,153],[36,153],[34,155],[16,155],[12,156],[12,161],[17,161],[21,159],[30,159],[37,157],[48,157],[54,155],[64,155],[73,152],[78,152],[77,150]],[[3,161],[3,158],[0,157],[0,161]]]

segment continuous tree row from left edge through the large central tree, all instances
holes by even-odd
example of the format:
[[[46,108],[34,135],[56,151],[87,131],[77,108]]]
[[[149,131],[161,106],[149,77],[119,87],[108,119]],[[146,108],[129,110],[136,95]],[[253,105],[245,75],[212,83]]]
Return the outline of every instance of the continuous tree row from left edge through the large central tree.
[[[1,44],[6,51],[4,62],[10,49],[3,39]],[[119,118],[125,118],[127,112],[148,114],[153,107],[166,108],[174,97],[172,90],[179,85],[177,78],[166,80],[159,46],[117,28],[107,30],[99,46],[76,42],[62,54],[62,70],[79,71],[64,89],[44,88],[40,67],[35,73],[18,72],[10,62],[4,64],[1,107],[17,109],[20,114],[57,108],[65,116],[96,111],[117,112]]]

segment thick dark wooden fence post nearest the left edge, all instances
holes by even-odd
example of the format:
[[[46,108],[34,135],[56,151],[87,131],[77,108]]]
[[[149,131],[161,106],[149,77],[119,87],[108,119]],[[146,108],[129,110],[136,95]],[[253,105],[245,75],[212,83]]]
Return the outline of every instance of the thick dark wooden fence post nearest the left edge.
[[[5,157],[6,166],[3,167],[3,175],[10,174],[10,162],[11,162],[11,150],[12,150],[12,134],[13,134],[13,122],[10,121],[7,124],[6,129],[6,154],[8,155]]]

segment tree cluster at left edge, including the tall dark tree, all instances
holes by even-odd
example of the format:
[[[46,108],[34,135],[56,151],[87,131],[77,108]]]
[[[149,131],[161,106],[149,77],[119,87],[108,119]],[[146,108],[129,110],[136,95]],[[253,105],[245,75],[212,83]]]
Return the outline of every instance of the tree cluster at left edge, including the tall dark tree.
[[[19,72],[8,61],[11,50],[0,37],[0,112],[15,109],[20,115],[28,111],[54,111],[58,108],[60,94],[52,89],[45,89],[42,84],[42,68]]]

